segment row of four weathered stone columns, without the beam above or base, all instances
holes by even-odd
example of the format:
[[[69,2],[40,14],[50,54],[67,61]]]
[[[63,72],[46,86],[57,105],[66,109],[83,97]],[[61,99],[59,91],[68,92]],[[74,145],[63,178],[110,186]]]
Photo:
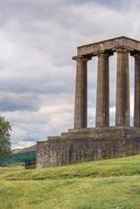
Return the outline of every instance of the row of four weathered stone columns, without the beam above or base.
[[[109,127],[109,57],[117,53],[116,127],[130,127],[129,56],[134,58],[133,127],[140,127],[140,52],[133,48],[101,50],[96,54],[77,55],[74,128],[87,128],[87,63],[98,57],[96,127]]]

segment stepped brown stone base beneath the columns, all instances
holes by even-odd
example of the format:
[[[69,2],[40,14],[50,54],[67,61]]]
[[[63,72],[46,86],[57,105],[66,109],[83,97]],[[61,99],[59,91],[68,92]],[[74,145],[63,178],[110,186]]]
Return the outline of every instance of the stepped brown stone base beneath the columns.
[[[47,167],[140,153],[140,128],[74,129],[36,144],[36,166]]]

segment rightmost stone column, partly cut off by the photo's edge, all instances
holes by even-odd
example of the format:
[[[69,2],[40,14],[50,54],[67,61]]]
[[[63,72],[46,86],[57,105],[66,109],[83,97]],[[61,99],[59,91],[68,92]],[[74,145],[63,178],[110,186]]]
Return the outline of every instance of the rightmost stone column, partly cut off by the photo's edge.
[[[140,54],[134,54],[134,127],[140,127]]]

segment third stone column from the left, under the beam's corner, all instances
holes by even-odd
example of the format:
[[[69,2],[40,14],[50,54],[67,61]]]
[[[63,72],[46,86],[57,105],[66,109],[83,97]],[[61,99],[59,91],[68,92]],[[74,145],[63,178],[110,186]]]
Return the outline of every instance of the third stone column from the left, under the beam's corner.
[[[116,125],[130,125],[129,52],[117,50]]]

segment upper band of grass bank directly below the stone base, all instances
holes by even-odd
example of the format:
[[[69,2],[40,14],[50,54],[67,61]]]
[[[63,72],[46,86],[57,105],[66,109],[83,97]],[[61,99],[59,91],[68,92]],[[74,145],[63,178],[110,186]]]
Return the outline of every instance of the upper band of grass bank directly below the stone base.
[[[6,170],[6,172],[4,172]],[[0,179],[29,180],[82,177],[131,176],[140,174],[140,155],[125,158],[93,161],[42,169],[0,168]]]

